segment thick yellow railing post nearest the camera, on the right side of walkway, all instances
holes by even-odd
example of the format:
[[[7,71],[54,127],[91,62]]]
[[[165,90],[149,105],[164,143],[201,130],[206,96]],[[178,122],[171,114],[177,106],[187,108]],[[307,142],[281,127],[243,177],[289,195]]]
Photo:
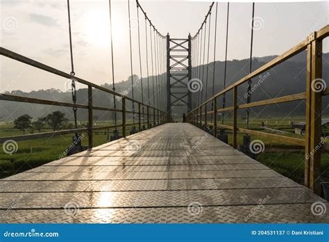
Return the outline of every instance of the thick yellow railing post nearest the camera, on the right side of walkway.
[[[309,36],[307,46],[305,186],[320,194],[322,95],[316,90],[316,82],[322,78],[322,40],[317,40],[316,34]]]

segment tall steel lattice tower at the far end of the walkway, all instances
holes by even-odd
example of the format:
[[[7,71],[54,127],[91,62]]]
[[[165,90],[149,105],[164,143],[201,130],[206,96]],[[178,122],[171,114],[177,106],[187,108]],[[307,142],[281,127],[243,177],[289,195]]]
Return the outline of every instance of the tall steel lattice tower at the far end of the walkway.
[[[171,111],[176,106],[185,106],[186,113],[192,110],[192,93],[188,88],[190,79],[191,35],[187,38],[170,38],[167,34],[167,122],[174,121]]]

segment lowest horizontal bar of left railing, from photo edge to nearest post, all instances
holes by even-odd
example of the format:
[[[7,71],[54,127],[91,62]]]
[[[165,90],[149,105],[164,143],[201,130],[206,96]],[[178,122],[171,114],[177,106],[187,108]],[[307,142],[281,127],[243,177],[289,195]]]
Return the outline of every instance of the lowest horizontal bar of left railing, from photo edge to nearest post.
[[[86,132],[87,128],[81,129],[69,129],[69,130],[60,130],[60,131],[52,131],[40,134],[25,134],[21,136],[7,136],[7,137],[0,137],[0,143],[5,142],[6,140],[15,140],[15,141],[24,141],[24,140],[33,140],[37,138],[48,138],[51,136],[60,136],[65,134],[74,134],[76,132]]]

